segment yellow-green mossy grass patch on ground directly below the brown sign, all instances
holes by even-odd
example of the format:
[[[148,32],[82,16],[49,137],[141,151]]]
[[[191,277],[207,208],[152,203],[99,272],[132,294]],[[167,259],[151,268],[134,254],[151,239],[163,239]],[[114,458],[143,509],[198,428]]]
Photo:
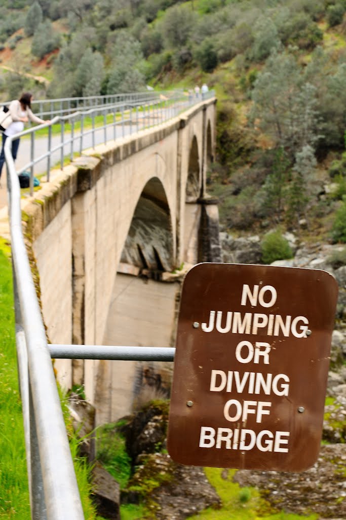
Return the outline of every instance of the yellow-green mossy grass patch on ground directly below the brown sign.
[[[193,520],[316,520],[317,515],[299,516],[272,511],[269,504],[260,497],[255,488],[241,488],[233,482],[236,470],[224,472],[218,468],[204,469],[207,479],[222,500],[222,508],[212,508],[190,516]],[[224,476],[223,476],[224,475]],[[226,476],[226,477],[225,477]]]

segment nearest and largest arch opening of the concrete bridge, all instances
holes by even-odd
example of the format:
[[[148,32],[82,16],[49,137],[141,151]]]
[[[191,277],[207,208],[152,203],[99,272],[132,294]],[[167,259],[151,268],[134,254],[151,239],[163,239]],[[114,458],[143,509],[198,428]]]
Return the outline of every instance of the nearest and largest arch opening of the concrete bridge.
[[[153,177],[136,204],[122,250],[104,345],[171,345],[179,285],[157,280],[162,271],[172,270],[173,253],[169,203],[161,181]],[[96,423],[116,421],[142,401],[167,397],[171,376],[171,363],[101,361]]]

